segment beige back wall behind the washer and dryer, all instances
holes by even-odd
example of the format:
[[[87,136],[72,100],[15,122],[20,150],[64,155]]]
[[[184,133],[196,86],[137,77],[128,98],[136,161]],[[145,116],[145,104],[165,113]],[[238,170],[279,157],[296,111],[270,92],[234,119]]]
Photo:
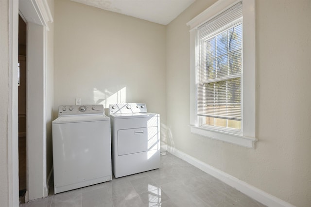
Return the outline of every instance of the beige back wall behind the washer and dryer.
[[[79,97],[82,104],[105,108],[116,101],[146,103],[165,122],[165,31],[163,25],[55,0],[54,117],[59,105]]]

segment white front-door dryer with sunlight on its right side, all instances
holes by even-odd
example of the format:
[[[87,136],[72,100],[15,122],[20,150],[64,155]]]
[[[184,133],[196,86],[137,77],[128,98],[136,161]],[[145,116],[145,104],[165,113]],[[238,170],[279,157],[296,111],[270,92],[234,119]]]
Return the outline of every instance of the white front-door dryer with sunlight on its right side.
[[[122,177],[160,167],[160,115],[146,104],[110,104],[112,171]]]

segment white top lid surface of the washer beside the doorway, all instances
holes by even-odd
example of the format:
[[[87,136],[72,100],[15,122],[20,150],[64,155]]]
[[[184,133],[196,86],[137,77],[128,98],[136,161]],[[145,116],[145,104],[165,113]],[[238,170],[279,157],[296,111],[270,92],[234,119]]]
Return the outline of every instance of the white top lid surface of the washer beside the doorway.
[[[52,124],[64,124],[64,123],[75,123],[75,122],[94,122],[94,121],[109,121],[110,118],[104,114],[96,115],[75,115],[75,116],[59,116],[57,119],[52,121]]]

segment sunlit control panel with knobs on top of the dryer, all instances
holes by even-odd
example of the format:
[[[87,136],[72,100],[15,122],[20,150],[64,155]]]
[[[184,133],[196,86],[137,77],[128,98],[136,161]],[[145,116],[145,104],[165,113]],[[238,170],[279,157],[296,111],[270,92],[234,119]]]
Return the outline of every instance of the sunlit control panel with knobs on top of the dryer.
[[[146,113],[147,107],[144,103],[123,103],[123,104],[110,104],[109,114],[117,113]]]

